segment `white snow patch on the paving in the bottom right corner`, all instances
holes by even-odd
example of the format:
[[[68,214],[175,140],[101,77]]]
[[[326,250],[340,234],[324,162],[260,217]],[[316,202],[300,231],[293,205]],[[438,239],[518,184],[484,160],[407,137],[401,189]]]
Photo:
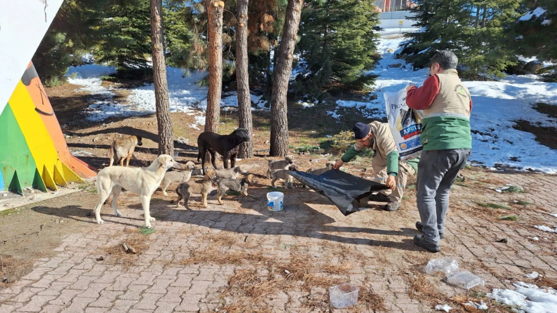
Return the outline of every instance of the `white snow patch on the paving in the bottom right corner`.
[[[517,306],[526,313],[557,312],[557,291],[553,288],[540,289],[536,285],[517,282],[516,289],[494,289],[486,296],[502,304]]]

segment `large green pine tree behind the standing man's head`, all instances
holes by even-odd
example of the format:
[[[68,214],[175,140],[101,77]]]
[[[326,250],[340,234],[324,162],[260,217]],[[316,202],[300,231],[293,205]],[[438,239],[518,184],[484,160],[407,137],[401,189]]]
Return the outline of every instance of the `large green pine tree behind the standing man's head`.
[[[460,70],[471,78],[501,76],[516,63],[505,44],[505,27],[517,16],[515,0],[418,0],[412,19],[421,31],[410,33],[402,54],[414,68],[427,67],[438,50],[451,50],[459,58]]]

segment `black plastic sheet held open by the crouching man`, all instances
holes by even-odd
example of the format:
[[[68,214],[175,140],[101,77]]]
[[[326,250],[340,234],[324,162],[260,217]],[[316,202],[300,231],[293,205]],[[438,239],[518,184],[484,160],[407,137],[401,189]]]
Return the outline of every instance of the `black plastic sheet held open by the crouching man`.
[[[360,202],[359,200],[367,198],[372,192],[388,189],[382,183],[369,181],[339,170],[326,171],[321,175],[291,171],[290,175],[335,203],[344,216],[367,210],[369,207],[356,206]]]

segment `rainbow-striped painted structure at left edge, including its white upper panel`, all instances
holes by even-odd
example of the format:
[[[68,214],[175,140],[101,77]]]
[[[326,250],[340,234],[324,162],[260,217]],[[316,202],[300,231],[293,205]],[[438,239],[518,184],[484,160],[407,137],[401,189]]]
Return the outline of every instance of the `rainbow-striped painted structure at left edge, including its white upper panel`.
[[[7,1],[0,10],[0,191],[56,190],[95,176],[94,168],[70,154],[29,62],[61,4]]]

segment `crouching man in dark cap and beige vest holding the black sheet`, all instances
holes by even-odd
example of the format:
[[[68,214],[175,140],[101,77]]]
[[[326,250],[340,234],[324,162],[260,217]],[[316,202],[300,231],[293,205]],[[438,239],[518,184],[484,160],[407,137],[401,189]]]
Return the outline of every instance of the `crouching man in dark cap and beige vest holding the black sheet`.
[[[344,153],[339,161],[336,161],[334,168],[338,170],[344,163],[352,160],[366,148],[372,148],[374,152],[373,178],[375,181],[387,185],[392,191],[371,195],[369,199],[388,202],[384,210],[397,211],[402,201],[408,175],[416,173],[419,159],[415,158],[408,162],[398,159],[397,145],[387,123],[378,121],[369,124],[356,123],[352,130],[356,143]]]

